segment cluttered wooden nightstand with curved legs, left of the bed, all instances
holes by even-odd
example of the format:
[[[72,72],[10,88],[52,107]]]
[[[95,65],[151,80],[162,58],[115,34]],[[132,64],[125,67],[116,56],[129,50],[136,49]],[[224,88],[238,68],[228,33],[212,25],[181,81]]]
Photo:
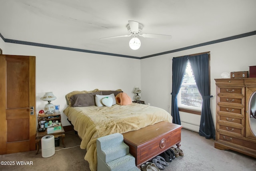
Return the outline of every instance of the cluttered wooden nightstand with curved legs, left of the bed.
[[[58,121],[59,123],[61,123],[60,112],[54,112],[53,114],[48,114],[48,115],[44,114],[43,116],[38,115],[37,118],[38,118],[38,128],[40,128],[40,121],[42,121],[42,120],[46,120],[47,122],[49,122],[49,121]],[[36,131],[36,154],[38,154],[39,143],[40,143],[42,137],[44,137],[45,135],[48,135],[47,129],[44,132],[39,132],[38,128],[37,128],[37,131]],[[62,137],[62,145],[63,145],[63,147],[66,147],[66,145],[64,144],[65,131],[64,131],[64,128],[62,127],[62,124],[61,124],[61,131],[54,132],[54,133],[49,133],[49,134],[53,135],[54,138]]]

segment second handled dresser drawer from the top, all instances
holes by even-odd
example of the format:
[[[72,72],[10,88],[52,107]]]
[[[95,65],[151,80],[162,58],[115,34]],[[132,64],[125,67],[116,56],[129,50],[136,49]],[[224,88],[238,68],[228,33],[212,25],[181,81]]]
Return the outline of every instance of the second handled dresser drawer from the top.
[[[244,106],[244,97],[218,96],[218,105]]]

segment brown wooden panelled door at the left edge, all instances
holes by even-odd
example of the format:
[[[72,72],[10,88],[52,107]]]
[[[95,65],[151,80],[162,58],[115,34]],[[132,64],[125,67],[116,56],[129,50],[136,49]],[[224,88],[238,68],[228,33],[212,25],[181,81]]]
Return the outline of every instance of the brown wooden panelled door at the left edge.
[[[35,56],[0,55],[0,154],[36,149]]]

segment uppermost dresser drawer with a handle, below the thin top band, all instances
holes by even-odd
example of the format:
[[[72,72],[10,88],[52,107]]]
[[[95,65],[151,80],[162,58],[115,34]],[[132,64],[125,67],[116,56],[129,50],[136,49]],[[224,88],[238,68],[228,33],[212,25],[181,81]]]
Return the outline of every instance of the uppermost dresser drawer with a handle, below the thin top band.
[[[244,87],[219,86],[218,95],[242,95],[244,96]]]

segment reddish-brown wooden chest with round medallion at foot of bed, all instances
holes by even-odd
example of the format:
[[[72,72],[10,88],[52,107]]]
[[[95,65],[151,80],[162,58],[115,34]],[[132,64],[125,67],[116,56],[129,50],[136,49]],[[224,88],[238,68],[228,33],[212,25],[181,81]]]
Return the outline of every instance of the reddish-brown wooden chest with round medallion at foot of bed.
[[[146,161],[156,157],[174,145],[180,146],[181,125],[162,121],[136,131],[123,133],[124,143],[135,157],[135,164],[140,167]]]

